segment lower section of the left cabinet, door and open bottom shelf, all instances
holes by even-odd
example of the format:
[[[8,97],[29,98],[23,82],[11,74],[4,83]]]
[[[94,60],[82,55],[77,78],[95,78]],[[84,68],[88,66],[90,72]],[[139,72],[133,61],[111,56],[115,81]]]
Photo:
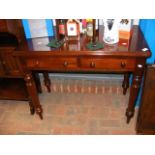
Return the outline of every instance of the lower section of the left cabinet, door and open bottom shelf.
[[[0,47],[0,99],[29,100],[23,80],[12,53],[15,47]]]

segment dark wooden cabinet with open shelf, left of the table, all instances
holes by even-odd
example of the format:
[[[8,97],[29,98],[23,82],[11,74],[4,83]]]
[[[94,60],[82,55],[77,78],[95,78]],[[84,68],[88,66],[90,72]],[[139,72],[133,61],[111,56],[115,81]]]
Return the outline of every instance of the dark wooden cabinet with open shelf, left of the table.
[[[20,20],[0,20],[0,99],[28,100],[31,113],[31,98],[28,95],[23,72],[13,56],[13,51],[24,39]],[[41,92],[38,75],[33,73],[37,92]]]

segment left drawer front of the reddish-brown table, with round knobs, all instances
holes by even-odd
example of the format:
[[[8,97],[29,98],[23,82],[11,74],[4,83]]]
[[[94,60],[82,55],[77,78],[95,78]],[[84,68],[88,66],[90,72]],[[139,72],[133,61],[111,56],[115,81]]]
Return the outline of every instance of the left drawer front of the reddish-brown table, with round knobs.
[[[58,57],[58,58],[30,58],[27,60],[27,66],[34,69],[46,69],[51,70],[59,69],[75,69],[77,67],[76,58]]]

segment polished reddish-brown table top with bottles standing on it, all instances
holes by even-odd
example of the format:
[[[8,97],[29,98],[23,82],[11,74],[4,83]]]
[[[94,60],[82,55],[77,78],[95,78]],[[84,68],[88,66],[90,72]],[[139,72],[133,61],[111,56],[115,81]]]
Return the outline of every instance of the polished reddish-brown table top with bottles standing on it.
[[[99,26],[99,32],[97,33],[96,40],[103,44],[103,49],[91,51],[87,49],[86,45],[89,42],[86,35],[80,36],[79,40],[67,41],[62,47],[54,49],[48,47],[47,44],[55,37],[41,37],[33,39],[25,39],[16,49],[15,55],[22,54],[97,54],[97,55],[127,55],[127,56],[144,56],[149,57],[151,55],[147,42],[141,32],[139,26],[133,26],[131,36],[129,40],[120,39],[118,43],[108,45],[103,42],[103,26]]]

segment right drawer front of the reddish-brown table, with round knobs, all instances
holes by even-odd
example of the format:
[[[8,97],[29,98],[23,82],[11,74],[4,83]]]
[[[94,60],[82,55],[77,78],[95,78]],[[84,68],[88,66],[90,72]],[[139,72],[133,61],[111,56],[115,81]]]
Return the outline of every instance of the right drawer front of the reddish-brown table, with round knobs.
[[[134,70],[135,59],[81,58],[81,68],[103,70]]]

